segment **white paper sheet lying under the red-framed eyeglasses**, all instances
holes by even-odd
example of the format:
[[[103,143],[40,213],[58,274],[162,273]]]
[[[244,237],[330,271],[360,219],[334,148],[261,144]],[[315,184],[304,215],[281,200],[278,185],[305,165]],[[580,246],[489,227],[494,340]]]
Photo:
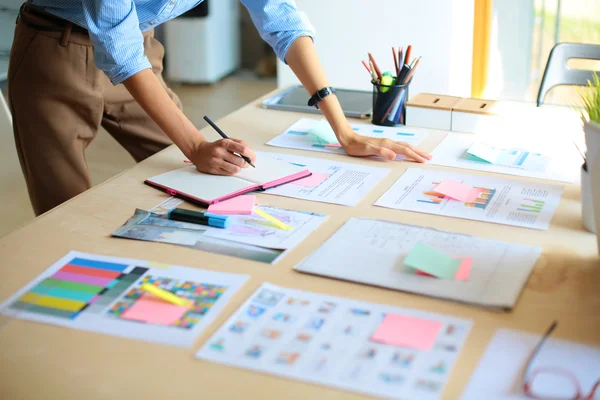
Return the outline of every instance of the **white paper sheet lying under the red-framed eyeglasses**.
[[[523,391],[523,373],[527,358],[540,339],[540,335],[498,330],[471,376],[461,400],[530,400],[531,397],[527,397]],[[600,348],[550,338],[535,357],[532,367],[532,370],[554,367],[570,371],[579,381],[581,393],[585,396],[600,378]],[[535,386],[546,394],[544,398],[575,397],[568,378],[553,378],[547,374],[538,378],[534,381]],[[597,395],[594,399],[598,398]]]

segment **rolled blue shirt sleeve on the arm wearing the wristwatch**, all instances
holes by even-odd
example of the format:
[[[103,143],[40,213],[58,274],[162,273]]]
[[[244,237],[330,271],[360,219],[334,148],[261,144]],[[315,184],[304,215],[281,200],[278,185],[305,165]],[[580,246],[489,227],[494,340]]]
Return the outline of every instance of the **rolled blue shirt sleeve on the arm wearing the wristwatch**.
[[[326,1],[326,0],[323,0]],[[314,40],[315,29],[294,0],[241,0],[263,40],[285,61],[288,49],[301,36]]]

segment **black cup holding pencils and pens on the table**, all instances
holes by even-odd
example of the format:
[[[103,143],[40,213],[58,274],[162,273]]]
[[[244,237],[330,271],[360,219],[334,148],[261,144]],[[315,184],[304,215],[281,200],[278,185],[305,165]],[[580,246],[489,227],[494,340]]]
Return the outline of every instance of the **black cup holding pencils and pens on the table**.
[[[373,118],[375,125],[396,126],[406,123],[408,85],[373,84]]]

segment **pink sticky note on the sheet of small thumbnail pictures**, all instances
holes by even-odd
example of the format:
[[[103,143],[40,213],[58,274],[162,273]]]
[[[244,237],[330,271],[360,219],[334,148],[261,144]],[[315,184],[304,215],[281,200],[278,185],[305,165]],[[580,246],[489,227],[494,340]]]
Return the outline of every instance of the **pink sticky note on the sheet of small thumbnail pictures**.
[[[391,346],[431,350],[442,326],[443,323],[439,321],[387,314],[371,340]]]

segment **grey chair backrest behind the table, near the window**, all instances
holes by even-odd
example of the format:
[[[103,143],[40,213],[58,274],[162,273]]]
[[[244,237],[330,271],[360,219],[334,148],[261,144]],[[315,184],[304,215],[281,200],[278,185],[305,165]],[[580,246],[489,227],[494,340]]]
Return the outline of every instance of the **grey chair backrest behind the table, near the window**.
[[[572,69],[567,66],[570,58],[600,60],[600,45],[583,43],[557,43],[548,57],[540,91],[538,92],[538,107],[550,89],[558,85],[587,85],[592,80],[594,71]],[[600,76],[600,71],[596,71]]]

